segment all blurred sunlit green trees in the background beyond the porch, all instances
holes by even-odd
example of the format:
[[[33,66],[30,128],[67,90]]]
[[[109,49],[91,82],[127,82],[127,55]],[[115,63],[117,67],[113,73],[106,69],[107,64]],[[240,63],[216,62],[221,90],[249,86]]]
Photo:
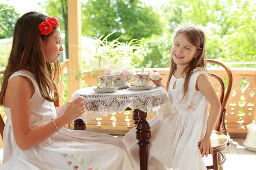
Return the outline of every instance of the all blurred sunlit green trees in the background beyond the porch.
[[[13,26],[22,14],[6,0],[0,3],[0,48],[8,58]],[[101,37],[111,34],[108,41],[142,39],[147,51],[140,68],[169,67],[175,28],[183,25],[201,27],[207,37],[207,58],[227,62],[230,67],[255,67],[256,2],[255,0],[82,0],[82,36]],[[67,51],[67,0],[37,0],[39,12],[57,17],[64,33]],[[4,40],[3,40],[4,39]],[[9,45],[8,45],[9,43]],[[136,63],[134,63],[135,65]],[[3,67],[3,66],[1,66]]]

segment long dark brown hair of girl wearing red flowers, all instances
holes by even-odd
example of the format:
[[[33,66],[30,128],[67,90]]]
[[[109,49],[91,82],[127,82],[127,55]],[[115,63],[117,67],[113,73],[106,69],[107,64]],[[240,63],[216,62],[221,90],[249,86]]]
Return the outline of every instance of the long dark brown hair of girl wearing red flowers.
[[[3,105],[8,79],[13,73],[20,70],[27,70],[35,76],[40,92],[47,101],[54,102],[56,100],[57,96],[52,97],[51,94],[57,91],[54,88],[54,81],[58,84],[60,62],[59,60],[55,63],[45,61],[41,40],[47,42],[58,26],[53,27],[51,34],[39,36],[39,25],[46,19],[46,15],[32,11],[17,20],[14,27],[12,50],[2,78],[0,105]]]

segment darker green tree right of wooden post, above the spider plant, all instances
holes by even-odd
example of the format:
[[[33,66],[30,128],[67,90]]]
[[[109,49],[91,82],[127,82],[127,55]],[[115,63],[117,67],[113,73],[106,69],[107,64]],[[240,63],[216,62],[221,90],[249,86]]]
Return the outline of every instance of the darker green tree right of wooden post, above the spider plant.
[[[82,15],[82,34],[87,36],[116,32],[111,40],[123,35],[122,40],[127,41],[162,34],[160,14],[140,0],[88,0]]]

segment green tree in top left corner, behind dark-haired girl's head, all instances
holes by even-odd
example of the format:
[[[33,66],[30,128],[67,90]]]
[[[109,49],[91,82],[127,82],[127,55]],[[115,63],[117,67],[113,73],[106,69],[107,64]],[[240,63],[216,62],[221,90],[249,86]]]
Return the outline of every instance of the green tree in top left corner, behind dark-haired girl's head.
[[[0,28],[5,32],[5,34],[0,34],[0,39],[12,37],[14,25],[20,17],[20,14],[15,11],[13,6],[0,3],[0,9],[6,8],[9,9],[0,11]]]

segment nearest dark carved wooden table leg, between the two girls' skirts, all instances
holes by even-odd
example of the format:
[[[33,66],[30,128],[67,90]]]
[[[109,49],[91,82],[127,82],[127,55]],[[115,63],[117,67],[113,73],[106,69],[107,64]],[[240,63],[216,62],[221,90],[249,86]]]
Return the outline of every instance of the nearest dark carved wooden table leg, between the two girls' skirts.
[[[135,109],[134,112],[139,113],[140,117],[136,127],[136,139],[140,147],[140,170],[148,170],[148,144],[150,143],[148,140],[151,138],[151,131],[146,120],[147,113],[139,109]]]

